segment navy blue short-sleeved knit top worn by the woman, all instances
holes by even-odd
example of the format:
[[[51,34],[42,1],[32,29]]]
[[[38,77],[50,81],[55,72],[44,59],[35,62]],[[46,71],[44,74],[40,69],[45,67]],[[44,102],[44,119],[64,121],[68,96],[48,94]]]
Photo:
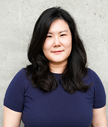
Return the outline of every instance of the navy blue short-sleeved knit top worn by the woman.
[[[58,81],[60,74],[54,76]],[[32,86],[22,69],[11,81],[4,105],[22,112],[25,127],[90,127],[93,108],[105,106],[106,95],[101,80],[91,69],[83,82],[93,83],[87,92],[69,94],[59,81],[57,89],[44,92]]]

